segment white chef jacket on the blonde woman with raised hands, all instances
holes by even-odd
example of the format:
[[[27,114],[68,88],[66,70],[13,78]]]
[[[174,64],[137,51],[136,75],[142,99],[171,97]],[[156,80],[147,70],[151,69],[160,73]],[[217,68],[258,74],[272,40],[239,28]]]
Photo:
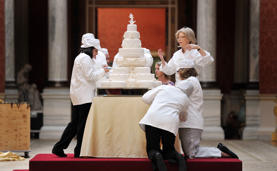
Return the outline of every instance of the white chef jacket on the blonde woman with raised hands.
[[[205,51],[205,53],[206,56],[203,57],[196,49],[192,49],[190,51],[186,50],[185,53],[183,53],[182,49],[180,49],[173,54],[173,57],[169,60],[168,63],[165,64],[165,66],[160,66],[160,71],[164,72],[166,75],[172,75],[175,73],[175,81],[176,83],[178,83],[179,81],[181,81],[177,73],[179,62],[181,60],[188,59],[194,62],[194,68],[199,75],[201,66],[207,66],[214,62],[214,58],[210,55],[210,53],[207,51]],[[197,78],[199,79],[199,76]]]

